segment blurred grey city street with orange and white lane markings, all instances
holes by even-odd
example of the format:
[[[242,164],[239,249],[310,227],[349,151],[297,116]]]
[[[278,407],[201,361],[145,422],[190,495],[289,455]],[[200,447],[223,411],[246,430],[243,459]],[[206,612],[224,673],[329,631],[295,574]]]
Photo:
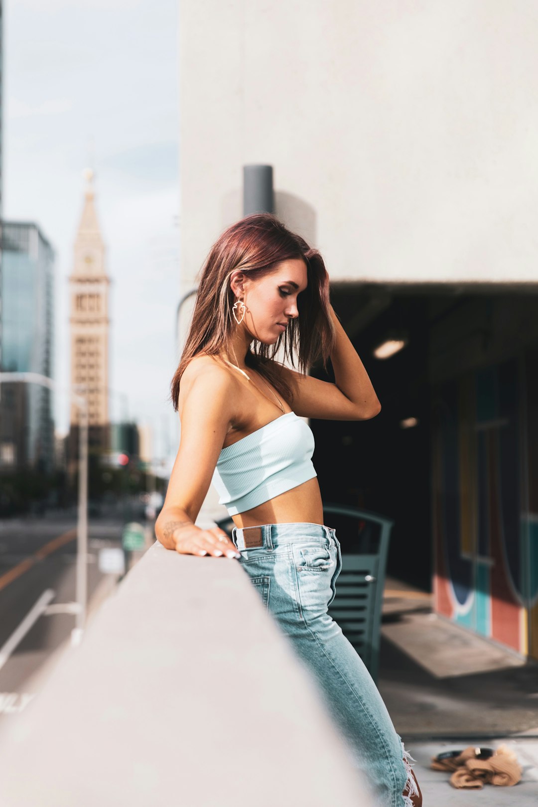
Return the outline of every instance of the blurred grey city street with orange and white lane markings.
[[[27,706],[40,672],[70,641],[76,615],[65,604],[76,600],[76,526],[74,511],[0,521],[0,720]],[[89,601],[118,578],[99,571],[98,553],[121,546],[122,527],[116,513],[89,520]]]

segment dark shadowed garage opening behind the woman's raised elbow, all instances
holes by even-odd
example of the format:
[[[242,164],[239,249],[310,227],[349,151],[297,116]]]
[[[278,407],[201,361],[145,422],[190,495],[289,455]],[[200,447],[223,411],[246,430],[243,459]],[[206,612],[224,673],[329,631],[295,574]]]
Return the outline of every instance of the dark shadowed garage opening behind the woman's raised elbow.
[[[442,385],[536,349],[537,288],[339,282],[331,301],[382,411],[371,420],[311,420],[323,500],[392,519],[387,574],[431,591],[432,418],[444,405]],[[373,356],[398,337],[403,349]],[[330,362],[327,373],[316,366],[311,374],[335,380]],[[404,428],[409,419],[416,424]]]

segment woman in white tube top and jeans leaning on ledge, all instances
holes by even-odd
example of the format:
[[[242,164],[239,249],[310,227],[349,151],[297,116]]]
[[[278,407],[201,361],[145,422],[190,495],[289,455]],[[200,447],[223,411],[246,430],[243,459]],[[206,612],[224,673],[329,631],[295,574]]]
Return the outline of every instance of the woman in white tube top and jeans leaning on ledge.
[[[299,372],[275,361],[281,345]],[[329,357],[336,383],[307,376]],[[301,420],[367,420],[381,404],[329,303],[321,255],[274,215],[247,216],[211,249],[172,400],[181,441],[156,537],[181,554],[240,561],[318,681],[376,805],[420,805],[382,698],[327,614],[340,542],[323,524],[314,438]],[[232,540],[194,525],[211,482],[236,525]]]

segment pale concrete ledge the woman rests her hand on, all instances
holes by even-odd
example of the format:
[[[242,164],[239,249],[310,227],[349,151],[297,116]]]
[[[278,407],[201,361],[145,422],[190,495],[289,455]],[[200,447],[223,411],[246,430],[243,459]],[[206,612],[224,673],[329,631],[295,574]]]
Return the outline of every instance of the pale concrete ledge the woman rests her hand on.
[[[368,807],[240,564],[154,544],[0,733],[2,805]]]

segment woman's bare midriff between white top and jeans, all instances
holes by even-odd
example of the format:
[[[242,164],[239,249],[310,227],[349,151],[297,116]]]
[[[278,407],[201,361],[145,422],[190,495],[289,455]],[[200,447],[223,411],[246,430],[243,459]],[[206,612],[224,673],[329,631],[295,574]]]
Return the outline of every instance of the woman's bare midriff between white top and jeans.
[[[292,487],[274,499],[231,516],[236,527],[288,524],[300,521],[323,524],[323,504],[317,476]]]

